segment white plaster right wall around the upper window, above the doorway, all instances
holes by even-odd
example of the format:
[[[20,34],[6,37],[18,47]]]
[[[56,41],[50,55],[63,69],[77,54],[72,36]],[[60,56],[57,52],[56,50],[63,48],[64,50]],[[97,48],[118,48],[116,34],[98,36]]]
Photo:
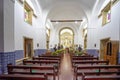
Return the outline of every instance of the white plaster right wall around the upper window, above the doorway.
[[[105,6],[108,1],[104,2]],[[103,6],[101,8],[103,8]],[[100,48],[100,40],[110,37],[111,40],[120,41],[120,1],[115,4],[111,9],[111,22],[102,26],[102,17],[98,17],[100,11],[94,12],[94,17],[92,17],[88,28],[88,49],[95,49],[94,43],[96,43],[96,48]],[[92,29],[94,28],[94,29]]]

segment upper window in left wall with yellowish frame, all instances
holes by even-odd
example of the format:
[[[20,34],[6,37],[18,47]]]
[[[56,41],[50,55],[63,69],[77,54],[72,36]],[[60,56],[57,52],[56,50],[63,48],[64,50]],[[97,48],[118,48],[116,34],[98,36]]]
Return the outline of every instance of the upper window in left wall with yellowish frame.
[[[32,25],[32,16],[33,16],[33,9],[29,6],[29,4],[24,1],[24,20],[25,22]]]

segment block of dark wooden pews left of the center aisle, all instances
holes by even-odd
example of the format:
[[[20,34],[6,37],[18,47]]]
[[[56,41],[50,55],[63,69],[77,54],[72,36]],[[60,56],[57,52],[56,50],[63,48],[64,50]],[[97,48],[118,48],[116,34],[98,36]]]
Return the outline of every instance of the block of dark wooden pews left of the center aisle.
[[[38,56],[21,65],[8,64],[8,74],[0,80],[59,80],[60,56]]]

